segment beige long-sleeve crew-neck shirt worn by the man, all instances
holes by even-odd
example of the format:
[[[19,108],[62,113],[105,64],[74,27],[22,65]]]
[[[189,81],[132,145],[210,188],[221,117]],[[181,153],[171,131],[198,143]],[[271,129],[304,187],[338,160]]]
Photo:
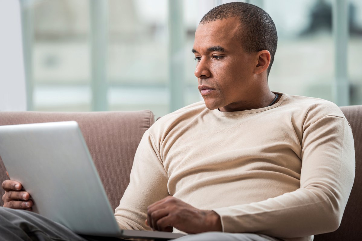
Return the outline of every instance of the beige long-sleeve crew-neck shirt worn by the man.
[[[172,195],[217,212],[224,232],[304,241],[335,230],[354,180],[351,128],[331,102],[280,95],[238,112],[198,102],[156,121],[115,210],[119,226],[148,230],[147,206]]]

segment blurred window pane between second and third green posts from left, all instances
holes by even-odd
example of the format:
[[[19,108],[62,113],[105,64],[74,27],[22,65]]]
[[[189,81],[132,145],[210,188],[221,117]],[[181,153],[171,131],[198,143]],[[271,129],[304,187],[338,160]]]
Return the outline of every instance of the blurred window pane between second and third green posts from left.
[[[166,0],[109,1],[110,110],[168,113],[167,7]]]

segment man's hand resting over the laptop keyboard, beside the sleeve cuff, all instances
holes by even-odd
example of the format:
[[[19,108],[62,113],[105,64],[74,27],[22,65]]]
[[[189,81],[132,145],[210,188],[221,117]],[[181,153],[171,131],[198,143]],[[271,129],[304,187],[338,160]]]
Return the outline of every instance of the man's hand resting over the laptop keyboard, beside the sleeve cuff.
[[[211,210],[199,210],[180,199],[168,196],[147,207],[147,220],[153,231],[186,233],[222,231],[220,216]]]

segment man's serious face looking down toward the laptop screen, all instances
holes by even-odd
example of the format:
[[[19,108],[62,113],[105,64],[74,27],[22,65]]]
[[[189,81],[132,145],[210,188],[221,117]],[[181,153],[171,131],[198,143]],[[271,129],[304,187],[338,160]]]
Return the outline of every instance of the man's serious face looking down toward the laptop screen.
[[[238,27],[236,18],[197,27],[193,47],[197,60],[195,76],[209,109],[243,109],[255,89],[254,68],[258,58],[254,53],[245,52],[236,40]]]

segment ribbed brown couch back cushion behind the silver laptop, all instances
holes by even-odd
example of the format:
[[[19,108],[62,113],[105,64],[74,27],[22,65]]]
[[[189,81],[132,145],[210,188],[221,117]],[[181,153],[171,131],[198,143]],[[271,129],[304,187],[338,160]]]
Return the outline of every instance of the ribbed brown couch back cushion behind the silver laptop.
[[[113,210],[127,185],[143,133],[153,124],[151,111],[0,112],[0,125],[77,121]],[[0,159],[0,182],[8,179]],[[44,180],[46,181],[46,180]],[[0,197],[4,190],[0,190]],[[1,199],[0,205],[3,206]]]

